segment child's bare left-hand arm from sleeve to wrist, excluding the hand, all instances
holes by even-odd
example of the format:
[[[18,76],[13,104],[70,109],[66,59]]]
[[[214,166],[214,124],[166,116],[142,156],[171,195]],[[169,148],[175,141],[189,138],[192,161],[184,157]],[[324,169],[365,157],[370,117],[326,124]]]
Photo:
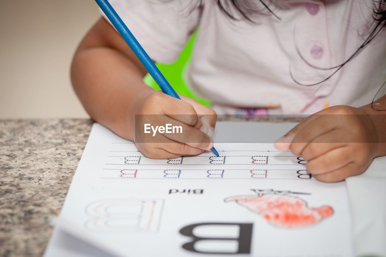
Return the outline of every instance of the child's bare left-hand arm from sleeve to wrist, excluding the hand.
[[[147,73],[122,37],[101,18],[80,43],[71,80],[88,114],[129,140],[135,101],[154,90],[143,83]],[[134,122],[132,122],[134,123]]]

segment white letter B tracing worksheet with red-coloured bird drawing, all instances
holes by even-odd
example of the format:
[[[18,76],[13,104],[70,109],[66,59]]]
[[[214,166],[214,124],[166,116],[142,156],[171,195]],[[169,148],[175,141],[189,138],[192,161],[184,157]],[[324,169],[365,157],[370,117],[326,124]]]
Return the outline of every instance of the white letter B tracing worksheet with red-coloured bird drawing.
[[[95,123],[45,256],[354,256],[345,182],[317,181],[273,141],[214,141],[219,157],[148,159]]]

